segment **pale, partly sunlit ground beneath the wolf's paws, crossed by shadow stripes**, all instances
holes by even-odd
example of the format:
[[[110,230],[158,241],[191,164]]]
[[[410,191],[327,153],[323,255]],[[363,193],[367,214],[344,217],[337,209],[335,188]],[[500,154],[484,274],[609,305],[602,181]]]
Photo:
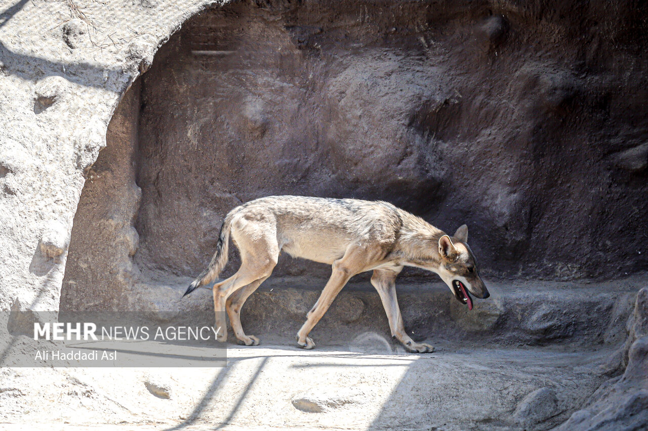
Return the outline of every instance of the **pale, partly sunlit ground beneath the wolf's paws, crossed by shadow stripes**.
[[[378,334],[364,337],[375,341],[370,353],[360,353],[369,344],[358,338],[314,351],[229,344],[226,368],[4,368],[0,428],[517,429],[518,403],[548,387],[558,403],[535,428],[545,429],[596,390],[610,355],[448,341],[410,355]]]

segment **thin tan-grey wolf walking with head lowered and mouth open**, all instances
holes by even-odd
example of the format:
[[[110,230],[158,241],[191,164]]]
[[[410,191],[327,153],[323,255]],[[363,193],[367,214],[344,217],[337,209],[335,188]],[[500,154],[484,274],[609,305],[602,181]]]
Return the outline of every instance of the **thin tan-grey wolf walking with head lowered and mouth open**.
[[[413,353],[432,352],[434,348],[414,342],[405,332],[395,288],[396,276],[404,266],[439,274],[469,309],[470,294],[489,297],[467,244],[466,225],[451,237],[421,217],[386,202],[303,196],[262,197],[231,210],[220,229],[209,267],[189,285],[185,295],[218,278],[227,263],[229,239],[240,251],[241,266],[233,276],[213,286],[216,339],[221,342],[227,340],[227,311],[239,342],[259,344],[259,338],[244,333],[240,310],[248,296],[270,277],[281,251],[332,267],[329,281],[297,332],[297,344],[305,349],[315,347],[308,333],[342,287],[360,272],[373,271],[371,284],[380,294],[391,335]]]

